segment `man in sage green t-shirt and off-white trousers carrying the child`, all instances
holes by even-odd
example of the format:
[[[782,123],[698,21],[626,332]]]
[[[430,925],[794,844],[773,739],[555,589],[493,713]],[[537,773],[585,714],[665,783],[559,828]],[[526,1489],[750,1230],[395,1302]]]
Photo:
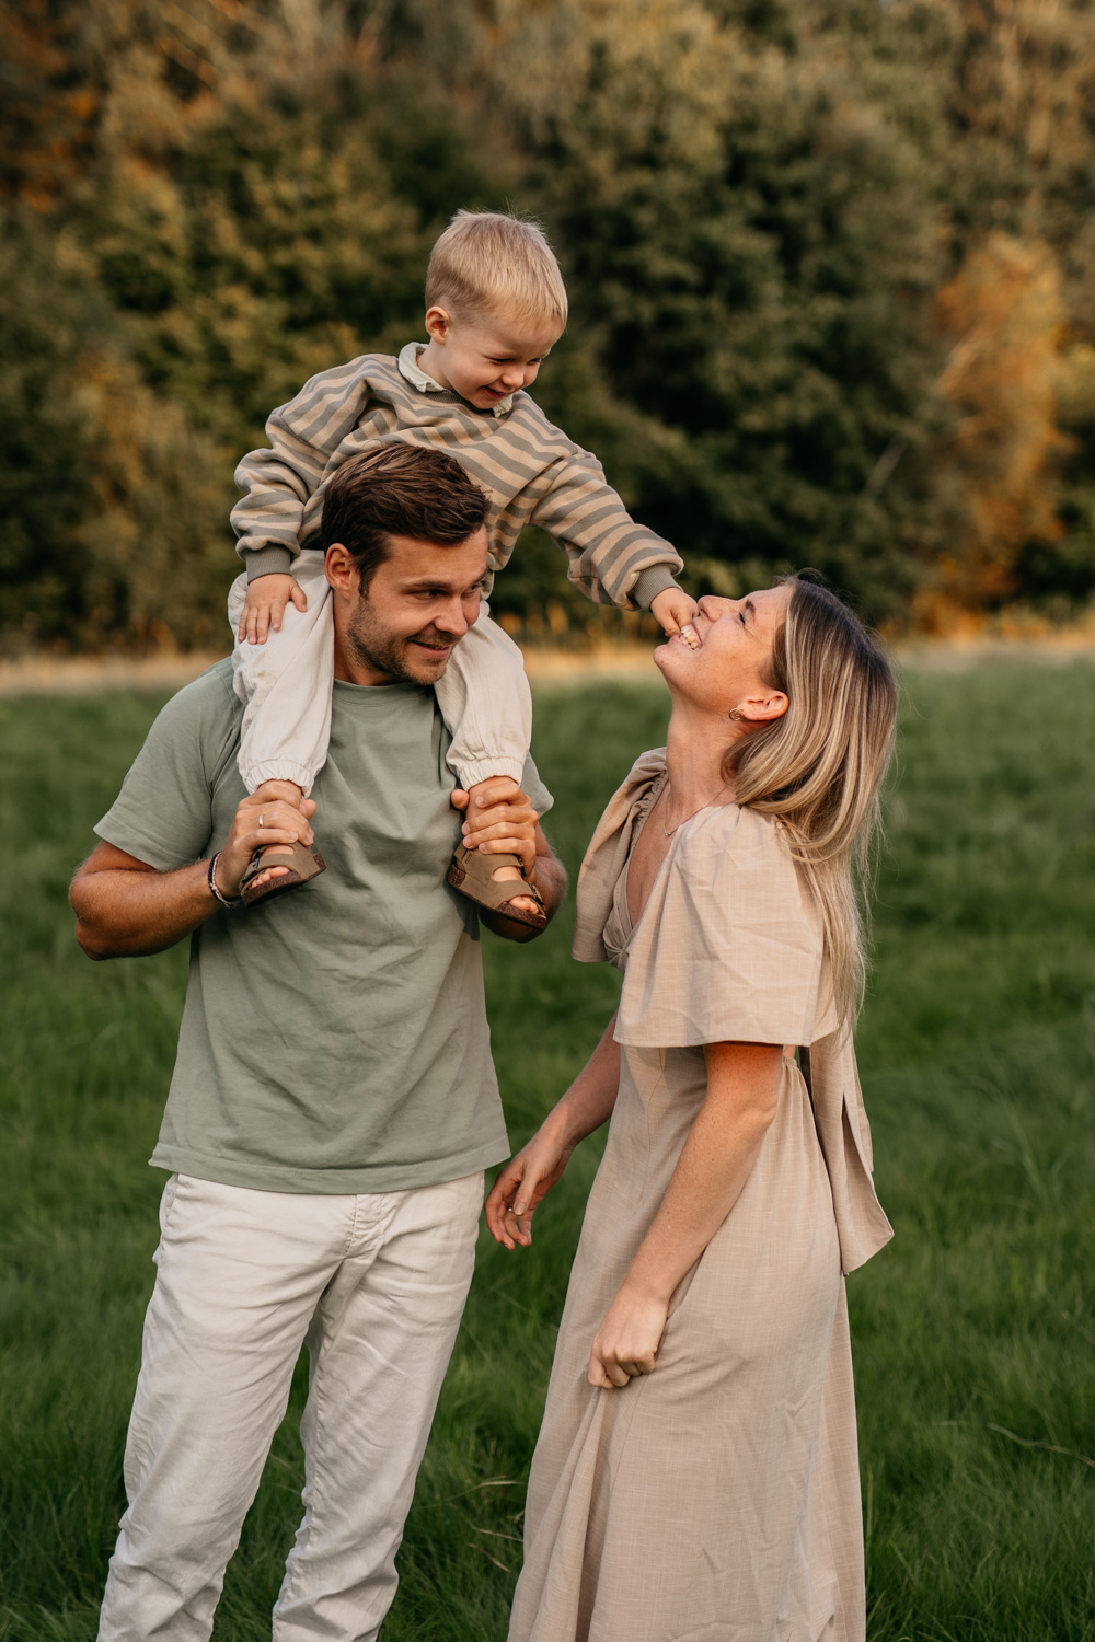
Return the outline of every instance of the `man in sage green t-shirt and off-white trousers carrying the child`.
[[[391,1606],[483,1169],[509,1151],[476,911],[445,883],[460,823],[432,690],[478,616],[484,512],[440,452],[346,463],[325,504],[335,685],[315,798],[246,796],[218,663],[158,718],[72,883],[90,957],[190,936],[102,1642],[208,1637],[304,1338],[305,1514],[274,1637],[366,1642]],[[465,841],[520,855],[553,913],[550,796],[532,764],[522,785],[499,782]],[[256,847],[310,844],[314,813],[327,872],[236,910]]]

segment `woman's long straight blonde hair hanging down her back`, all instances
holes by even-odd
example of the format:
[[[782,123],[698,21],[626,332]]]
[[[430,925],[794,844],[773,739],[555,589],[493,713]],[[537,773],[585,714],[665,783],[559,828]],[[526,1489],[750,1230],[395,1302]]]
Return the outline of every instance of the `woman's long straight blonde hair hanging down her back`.
[[[821,913],[837,1020],[850,1026],[864,998],[865,900],[898,693],[847,604],[798,576],[780,585],[791,598],[765,683],[790,704],[739,742],[727,773],[739,805],[783,828]]]

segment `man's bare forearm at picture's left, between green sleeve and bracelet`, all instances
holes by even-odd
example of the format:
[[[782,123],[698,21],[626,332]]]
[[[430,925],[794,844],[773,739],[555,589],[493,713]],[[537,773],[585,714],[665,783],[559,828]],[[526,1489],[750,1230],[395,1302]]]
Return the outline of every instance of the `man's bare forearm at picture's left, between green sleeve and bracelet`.
[[[89,957],[146,957],[182,941],[217,911],[208,862],[177,872],[115,867],[72,883],[76,939]]]

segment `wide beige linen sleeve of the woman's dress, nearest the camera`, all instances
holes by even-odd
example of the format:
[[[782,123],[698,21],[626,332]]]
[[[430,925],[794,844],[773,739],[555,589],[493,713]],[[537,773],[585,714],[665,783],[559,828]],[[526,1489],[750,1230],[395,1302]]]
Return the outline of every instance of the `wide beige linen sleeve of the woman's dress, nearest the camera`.
[[[616,1039],[811,1043],[821,926],[777,826],[727,805],[667,859],[632,938]]]

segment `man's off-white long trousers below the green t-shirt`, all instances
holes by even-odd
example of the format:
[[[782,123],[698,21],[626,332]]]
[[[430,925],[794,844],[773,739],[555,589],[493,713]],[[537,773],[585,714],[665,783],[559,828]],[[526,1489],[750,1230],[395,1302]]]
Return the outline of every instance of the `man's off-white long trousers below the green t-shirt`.
[[[100,1642],[205,1642],[300,1343],[276,1642],[373,1642],[474,1263],[483,1176],[320,1197],[172,1176]]]

